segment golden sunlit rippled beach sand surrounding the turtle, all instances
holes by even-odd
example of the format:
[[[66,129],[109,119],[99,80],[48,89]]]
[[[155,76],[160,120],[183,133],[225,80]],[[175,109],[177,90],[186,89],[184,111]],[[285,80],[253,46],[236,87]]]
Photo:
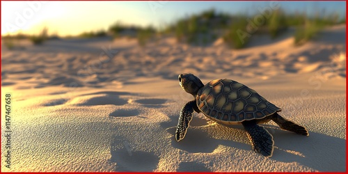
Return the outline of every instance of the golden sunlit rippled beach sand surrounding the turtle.
[[[194,47],[163,38],[145,47],[109,38],[49,40],[2,48],[1,131],[11,98],[11,168],[2,171],[345,171],[345,26],[292,46],[285,35],[255,35],[246,49],[216,40]],[[253,88],[308,128],[309,136],[264,127],[272,157],[253,152],[241,125],[220,125],[193,114],[187,136],[174,133],[192,100],[177,75],[203,83],[227,78]]]

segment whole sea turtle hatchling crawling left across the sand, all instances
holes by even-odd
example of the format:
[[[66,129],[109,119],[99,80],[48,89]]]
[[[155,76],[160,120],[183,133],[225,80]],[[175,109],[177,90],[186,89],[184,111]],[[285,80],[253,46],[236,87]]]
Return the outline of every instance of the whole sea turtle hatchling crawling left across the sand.
[[[280,116],[280,108],[237,81],[215,79],[204,85],[193,74],[180,74],[178,79],[180,86],[193,95],[194,100],[187,102],[180,111],[175,132],[176,141],[184,139],[193,111],[202,112],[207,118],[223,124],[242,124],[253,150],[266,157],[273,154],[273,136],[258,124],[273,120],[282,129],[309,135],[305,127]]]

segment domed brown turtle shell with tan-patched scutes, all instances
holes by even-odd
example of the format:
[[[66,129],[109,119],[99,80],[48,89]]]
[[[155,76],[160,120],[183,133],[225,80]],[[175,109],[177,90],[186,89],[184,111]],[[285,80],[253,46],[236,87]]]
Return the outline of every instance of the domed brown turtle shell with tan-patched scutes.
[[[198,90],[197,106],[205,116],[226,124],[262,119],[281,111],[255,90],[230,79],[216,79]]]

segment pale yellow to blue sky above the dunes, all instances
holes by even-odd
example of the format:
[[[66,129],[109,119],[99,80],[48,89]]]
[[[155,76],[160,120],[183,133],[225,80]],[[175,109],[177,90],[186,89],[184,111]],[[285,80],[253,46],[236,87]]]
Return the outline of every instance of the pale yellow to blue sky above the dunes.
[[[108,29],[111,24],[164,26],[182,17],[214,8],[230,14],[258,14],[282,8],[287,13],[346,14],[345,1],[1,1],[1,35],[49,33],[78,35]],[[324,9],[324,10],[323,10]]]

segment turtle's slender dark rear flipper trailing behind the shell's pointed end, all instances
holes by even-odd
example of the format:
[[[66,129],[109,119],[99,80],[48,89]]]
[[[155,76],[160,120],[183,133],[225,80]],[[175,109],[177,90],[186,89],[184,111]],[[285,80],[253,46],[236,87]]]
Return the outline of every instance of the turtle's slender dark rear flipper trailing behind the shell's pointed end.
[[[278,113],[274,113],[272,120],[274,122],[277,123],[277,125],[279,125],[280,128],[291,131],[291,132],[295,132],[296,134],[301,134],[301,135],[306,135],[308,136],[308,130],[306,129],[306,127],[297,125],[296,123],[287,120],[285,118],[283,118],[282,116],[280,116]]]

